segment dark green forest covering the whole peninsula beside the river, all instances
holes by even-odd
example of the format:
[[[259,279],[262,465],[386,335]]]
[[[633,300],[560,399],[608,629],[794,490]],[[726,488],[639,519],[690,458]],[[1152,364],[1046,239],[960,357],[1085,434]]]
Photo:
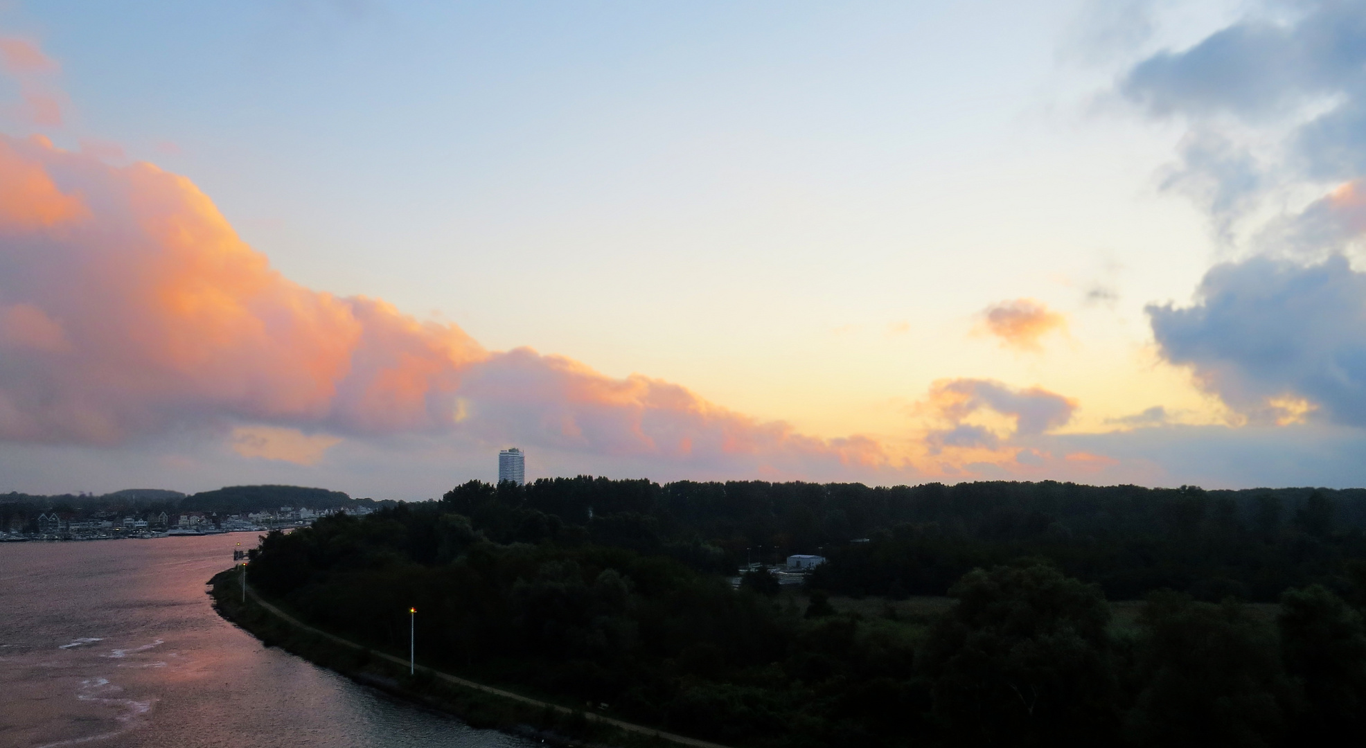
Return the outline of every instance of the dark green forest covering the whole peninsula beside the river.
[[[272,532],[249,573],[369,646],[404,648],[415,606],[425,662],[735,745],[1279,745],[1362,726],[1362,502],[1052,482],[469,482]],[[764,569],[728,580],[746,554],[802,551],[829,562],[800,595]],[[885,607],[840,613],[840,594]],[[899,614],[910,594],[958,605]],[[1119,616],[1108,596],[1147,602]]]

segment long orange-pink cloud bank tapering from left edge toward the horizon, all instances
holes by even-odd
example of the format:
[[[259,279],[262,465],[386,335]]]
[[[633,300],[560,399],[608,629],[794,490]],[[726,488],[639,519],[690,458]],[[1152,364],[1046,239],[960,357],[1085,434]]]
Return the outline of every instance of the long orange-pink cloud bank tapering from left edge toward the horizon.
[[[459,434],[560,452],[799,474],[877,470],[683,386],[605,377],[454,325],[303,288],[189,180],[0,136],[0,440],[112,445],[236,429],[245,456],[310,463],[336,437]]]

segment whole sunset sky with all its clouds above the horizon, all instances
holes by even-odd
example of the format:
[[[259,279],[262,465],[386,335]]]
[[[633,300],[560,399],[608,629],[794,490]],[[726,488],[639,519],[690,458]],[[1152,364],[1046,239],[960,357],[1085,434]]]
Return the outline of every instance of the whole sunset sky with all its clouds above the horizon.
[[[1361,3],[0,3],[0,491],[1362,486],[1363,176]]]

